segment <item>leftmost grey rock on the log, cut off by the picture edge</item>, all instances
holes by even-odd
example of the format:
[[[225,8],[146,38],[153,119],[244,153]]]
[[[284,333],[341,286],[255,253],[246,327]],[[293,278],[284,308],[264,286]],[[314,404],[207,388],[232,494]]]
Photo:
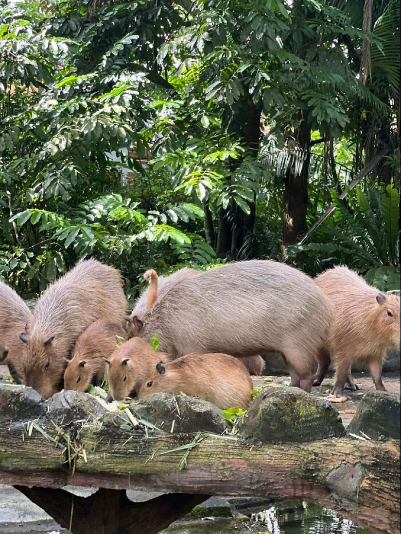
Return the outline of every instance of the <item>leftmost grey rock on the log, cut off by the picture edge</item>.
[[[0,421],[27,421],[45,412],[45,401],[37,391],[0,382]]]

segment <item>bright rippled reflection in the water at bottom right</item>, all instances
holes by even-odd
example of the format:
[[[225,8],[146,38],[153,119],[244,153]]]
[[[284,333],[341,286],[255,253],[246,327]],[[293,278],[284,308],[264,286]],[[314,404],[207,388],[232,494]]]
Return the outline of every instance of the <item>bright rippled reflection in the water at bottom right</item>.
[[[371,534],[336,512],[307,502],[270,506],[251,517],[271,534]]]

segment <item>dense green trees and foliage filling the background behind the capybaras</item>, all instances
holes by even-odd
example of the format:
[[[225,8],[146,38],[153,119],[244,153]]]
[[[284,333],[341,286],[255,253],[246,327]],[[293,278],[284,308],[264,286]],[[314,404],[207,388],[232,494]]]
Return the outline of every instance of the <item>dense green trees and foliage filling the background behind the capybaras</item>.
[[[35,294],[96,255],[134,294],[149,267],[273,257],[399,287],[399,4],[363,12],[0,0],[0,276]]]

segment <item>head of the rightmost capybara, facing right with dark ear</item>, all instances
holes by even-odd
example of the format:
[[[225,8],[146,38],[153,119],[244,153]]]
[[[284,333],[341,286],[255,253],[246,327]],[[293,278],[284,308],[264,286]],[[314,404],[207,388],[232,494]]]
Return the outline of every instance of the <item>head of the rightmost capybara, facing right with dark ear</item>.
[[[372,332],[387,348],[400,349],[401,299],[391,293],[376,296],[378,306],[372,314]]]

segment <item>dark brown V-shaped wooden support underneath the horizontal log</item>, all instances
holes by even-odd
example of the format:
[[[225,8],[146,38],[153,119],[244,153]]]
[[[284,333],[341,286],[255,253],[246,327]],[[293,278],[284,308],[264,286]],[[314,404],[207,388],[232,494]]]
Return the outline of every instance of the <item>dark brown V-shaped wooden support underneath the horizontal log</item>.
[[[209,497],[170,493],[132,502],[124,490],[100,488],[84,498],[65,490],[14,487],[74,534],[157,534]]]

